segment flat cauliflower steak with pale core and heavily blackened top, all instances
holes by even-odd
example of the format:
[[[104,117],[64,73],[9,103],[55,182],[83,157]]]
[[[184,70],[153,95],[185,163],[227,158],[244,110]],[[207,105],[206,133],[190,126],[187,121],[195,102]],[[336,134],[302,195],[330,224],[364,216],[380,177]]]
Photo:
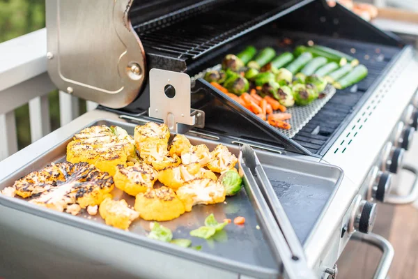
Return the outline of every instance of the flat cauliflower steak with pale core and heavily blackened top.
[[[29,202],[61,212],[71,204],[85,209],[87,206],[100,204],[114,188],[114,181],[107,172],[100,172],[88,163],[67,163],[61,171],[63,180],[56,180],[54,187]],[[72,213],[75,207],[71,206],[68,210]]]

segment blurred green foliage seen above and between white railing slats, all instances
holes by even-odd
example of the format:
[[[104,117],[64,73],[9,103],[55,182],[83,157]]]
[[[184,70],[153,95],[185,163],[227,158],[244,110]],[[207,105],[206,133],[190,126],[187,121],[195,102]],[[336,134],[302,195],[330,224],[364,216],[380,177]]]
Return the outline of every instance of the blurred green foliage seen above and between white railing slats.
[[[0,0],[0,43],[45,27],[45,0]],[[28,46],[30,48],[30,46]],[[59,128],[59,93],[48,95],[51,128]],[[80,113],[86,111],[80,102]],[[31,143],[29,105],[15,110],[19,149]]]

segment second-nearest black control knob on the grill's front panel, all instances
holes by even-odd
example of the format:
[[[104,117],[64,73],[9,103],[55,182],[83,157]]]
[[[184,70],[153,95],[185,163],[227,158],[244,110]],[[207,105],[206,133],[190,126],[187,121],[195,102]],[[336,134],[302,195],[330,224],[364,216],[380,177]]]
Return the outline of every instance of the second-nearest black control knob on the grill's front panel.
[[[392,184],[392,174],[381,172],[378,167],[373,167],[369,172],[368,179],[367,199],[373,198],[379,202],[385,202],[385,197],[389,193]]]

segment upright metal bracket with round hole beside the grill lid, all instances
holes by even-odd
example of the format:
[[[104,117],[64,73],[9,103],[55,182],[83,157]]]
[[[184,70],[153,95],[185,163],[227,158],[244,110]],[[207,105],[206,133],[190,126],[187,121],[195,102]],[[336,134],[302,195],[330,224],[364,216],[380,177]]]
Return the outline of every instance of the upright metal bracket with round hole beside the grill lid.
[[[149,116],[162,119],[173,133],[205,126],[205,112],[192,110],[190,94],[189,75],[157,68],[150,70]]]

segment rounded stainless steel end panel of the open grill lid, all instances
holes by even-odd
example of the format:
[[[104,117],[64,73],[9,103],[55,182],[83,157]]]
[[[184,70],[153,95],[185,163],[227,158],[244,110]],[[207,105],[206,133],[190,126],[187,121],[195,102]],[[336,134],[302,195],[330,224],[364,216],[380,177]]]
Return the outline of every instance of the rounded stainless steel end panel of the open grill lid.
[[[59,89],[113,108],[137,97],[146,59],[128,18],[132,1],[47,0],[47,66]]]

